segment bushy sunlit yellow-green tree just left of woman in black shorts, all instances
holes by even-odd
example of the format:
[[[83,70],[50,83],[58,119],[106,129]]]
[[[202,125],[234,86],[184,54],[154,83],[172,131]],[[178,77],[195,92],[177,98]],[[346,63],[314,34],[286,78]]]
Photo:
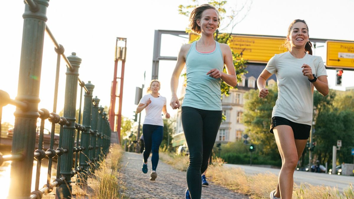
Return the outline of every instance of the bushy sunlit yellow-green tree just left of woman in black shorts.
[[[249,135],[251,142],[257,144],[257,153],[270,156],[274,160],[280,157],[274,135],[269,132],[269,126],[273,107],[278,98],[277,89],[276,85],[268,87],[269,94],[263,99],[258,97],[258,90],[252,89],[246,92],[243,115],[245,132]]]

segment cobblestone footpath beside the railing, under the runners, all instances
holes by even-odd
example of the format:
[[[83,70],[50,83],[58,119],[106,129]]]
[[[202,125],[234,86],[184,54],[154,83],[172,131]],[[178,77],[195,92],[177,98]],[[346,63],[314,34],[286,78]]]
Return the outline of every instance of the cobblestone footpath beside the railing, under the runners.
[[[131,198],[184,198],[184,191],[187,187],[185,172],[173,169],[172,166],[159,161],[157,167],[158,177],[156,181],[150,181],[151,161],[148,161],[149,171],[143,174],[141,166],[143,163],[142,154],[125,152],[122,163],[127,166],[122,169],[122,180],[126,183],[125,194]],[[210,183],[203,186],[202,198],[204,199],[246,199],[241,195],[230,191],[227,188]]]

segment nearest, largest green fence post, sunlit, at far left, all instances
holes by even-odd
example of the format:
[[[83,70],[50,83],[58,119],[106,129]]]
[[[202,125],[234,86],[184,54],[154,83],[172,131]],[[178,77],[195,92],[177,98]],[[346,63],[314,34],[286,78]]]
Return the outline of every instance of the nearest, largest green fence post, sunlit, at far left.
[[[39,84],[44,30],[48,5],[48,0],[35,0],[33,6],[25,4],[25,11],[22,15],[24,21],[16,99],[26,102],[27,108],[17,107],[14,113],[15,128],[12,154],[22,154],[23,159],[11,163],[9,198],[30,198],[36,122],[39,116]]]

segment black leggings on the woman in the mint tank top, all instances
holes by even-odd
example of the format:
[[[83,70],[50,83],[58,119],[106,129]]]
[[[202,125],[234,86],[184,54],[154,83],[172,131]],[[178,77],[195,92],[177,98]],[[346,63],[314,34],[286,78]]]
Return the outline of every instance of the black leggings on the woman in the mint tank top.
[[[221,110],[182,107],[182,126],[189,149],[187,184],[192,199],[201,197],[201,174],[208,167],[221,119]]]

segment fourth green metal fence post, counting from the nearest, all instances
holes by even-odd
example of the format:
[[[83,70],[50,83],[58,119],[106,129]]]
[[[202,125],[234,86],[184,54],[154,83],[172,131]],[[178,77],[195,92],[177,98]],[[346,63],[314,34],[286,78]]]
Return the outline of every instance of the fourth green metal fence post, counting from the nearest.
[[[99,104],[99,99],[97,96],[92,99],[94,104],[92,104],[92,117],[91,117],[91,129],[93,131],[91,140],[90,140],[90,146],[92,146],[92,149],[90,151],[90,162],[91,162],[91,172],[95,173],[95,167],[96,167],[96,150],[97,150],[97,120],[98,120],[98,104]]]

